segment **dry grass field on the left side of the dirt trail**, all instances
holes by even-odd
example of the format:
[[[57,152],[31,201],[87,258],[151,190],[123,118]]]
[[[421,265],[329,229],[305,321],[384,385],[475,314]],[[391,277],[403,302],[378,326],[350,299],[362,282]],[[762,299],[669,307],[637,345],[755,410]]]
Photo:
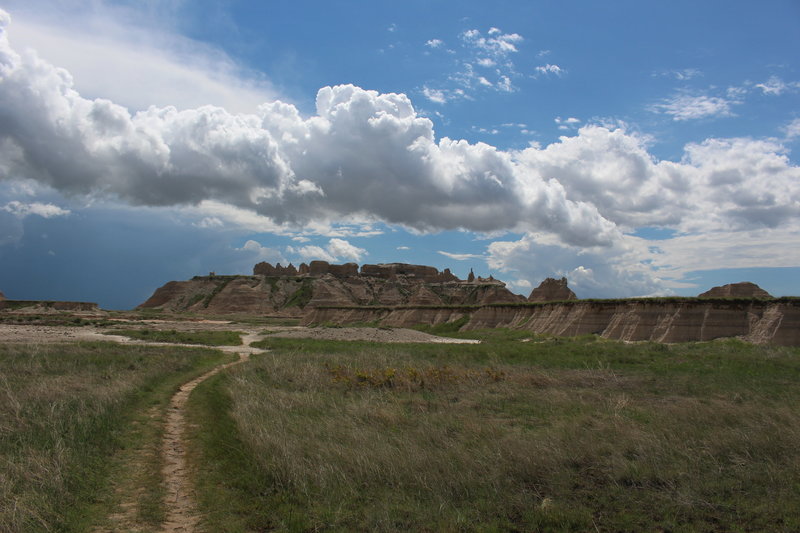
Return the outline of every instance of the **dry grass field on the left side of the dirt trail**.
[[[163,519],[160,417],[175,388],[230,359],[201,348],[0,344],[0,531],[90,531],[147,481],[140,520]],[[155,416],[150,416],[155,413]],[[118,458],[156,450],[144,462]]]

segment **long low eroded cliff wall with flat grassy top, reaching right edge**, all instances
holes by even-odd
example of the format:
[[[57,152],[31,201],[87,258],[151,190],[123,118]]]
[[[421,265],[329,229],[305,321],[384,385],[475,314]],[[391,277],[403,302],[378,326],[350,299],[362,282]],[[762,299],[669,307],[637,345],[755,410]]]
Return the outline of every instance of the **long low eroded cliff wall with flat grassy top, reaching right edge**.
[[[310,311],[305,324],[372,322],[437,325],[469,316],[463,331],[511,328],[559,336],[596,334],[622,341],[692,342],[740,337],[800,345],[800,300],[628,300],[536,305],[405,307]]]

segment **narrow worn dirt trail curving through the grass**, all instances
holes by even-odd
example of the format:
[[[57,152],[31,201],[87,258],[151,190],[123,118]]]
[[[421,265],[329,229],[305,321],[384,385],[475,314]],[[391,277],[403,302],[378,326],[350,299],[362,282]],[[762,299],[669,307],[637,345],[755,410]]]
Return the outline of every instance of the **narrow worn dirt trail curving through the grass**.
[[[191,475],[186,466],[186,442],[184,432],[186,429],[186,402],[189,395],[200,383],[211,376],[246,361],[250,354],[260,353],[264,350],[253,348],[250,344],[261,337],[255,333],[248,333],[242,337],[244,346],[225,346],[221,349],[239,354],[239,360],[220,365],[202,376],[199,376],[181,386],[170,400],[164,429],[164,482],[167,489],[167,519],[161,528],[164,533],[195,531],[200,521],[200,516],[195,507],[194,490]]]

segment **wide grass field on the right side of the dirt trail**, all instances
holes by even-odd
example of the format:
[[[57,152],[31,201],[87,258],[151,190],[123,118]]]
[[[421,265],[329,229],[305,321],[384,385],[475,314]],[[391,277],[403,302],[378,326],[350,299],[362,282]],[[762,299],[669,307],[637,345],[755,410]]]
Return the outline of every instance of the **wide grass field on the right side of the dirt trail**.
[[[454,335],[268,338],[201,385],[208,530],[800,530],[800,350]]]

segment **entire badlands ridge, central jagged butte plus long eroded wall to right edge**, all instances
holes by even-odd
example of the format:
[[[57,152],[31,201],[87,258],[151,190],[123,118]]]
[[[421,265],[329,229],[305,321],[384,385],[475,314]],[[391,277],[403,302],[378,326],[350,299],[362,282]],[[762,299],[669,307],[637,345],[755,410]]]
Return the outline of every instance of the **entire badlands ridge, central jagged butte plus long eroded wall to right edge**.
[[[548,278],[525,298],[492,277],[470,273],[461,280],[447,269],[422,265],[259,263],[252,276],[211,273],[171,281],[139,307],[299,317],[305,325],[451,324],[464,331],[505,327],[623,341],[738,337],[800,345],[800,299],[773,298],[747,282],[715,287],[697,298],[578,300],[566,279]]]

